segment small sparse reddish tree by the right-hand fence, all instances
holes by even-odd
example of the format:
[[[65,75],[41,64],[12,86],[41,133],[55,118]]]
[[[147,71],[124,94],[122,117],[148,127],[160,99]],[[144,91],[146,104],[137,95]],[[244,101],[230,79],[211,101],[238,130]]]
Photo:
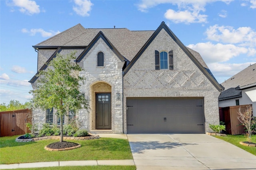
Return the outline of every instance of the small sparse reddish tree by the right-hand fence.
[[[244,112],[241,112],[241,107],[239,107],[237,118],[246,129],[246,137],[248,139],[248,142],[251,142],[252,132],[255,131],[253,127],[256,123],[255,117],[252,114],[251,105],[246,106],[246,110],[244,110]]]

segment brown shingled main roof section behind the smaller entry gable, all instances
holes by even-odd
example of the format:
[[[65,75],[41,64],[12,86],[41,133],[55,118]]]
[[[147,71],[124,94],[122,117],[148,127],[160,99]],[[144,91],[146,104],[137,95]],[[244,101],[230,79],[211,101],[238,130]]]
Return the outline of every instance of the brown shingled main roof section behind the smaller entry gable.
[[[56,46],[88,46],[100,31],[118,52],[130,61],[154,33],[154,31],[130,31],[127,28],[84,28],[81,24],[77,24],[33,47],[38,49],[56,48]]]

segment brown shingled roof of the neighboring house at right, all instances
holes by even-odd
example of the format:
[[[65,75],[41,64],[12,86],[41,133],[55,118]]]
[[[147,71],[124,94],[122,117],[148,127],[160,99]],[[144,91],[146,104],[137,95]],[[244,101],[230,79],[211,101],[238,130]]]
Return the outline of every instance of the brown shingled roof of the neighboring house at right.
[[[256,86],[256,64],[252,64],[222,83],[225,89],[246,89]]]

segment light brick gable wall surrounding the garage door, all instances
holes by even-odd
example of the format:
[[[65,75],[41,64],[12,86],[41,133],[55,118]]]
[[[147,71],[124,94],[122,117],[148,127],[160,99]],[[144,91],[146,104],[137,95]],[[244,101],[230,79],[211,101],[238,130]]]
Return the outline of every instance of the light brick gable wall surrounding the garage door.
[[[155,50],[173,50],[174,70],[155,70]],[[208,124],[219,124],[220,92],[162,29],[124,76],[124,108],[129,97],[203,97],[206,132]],[[124,132],[126,109],[124,109]]]

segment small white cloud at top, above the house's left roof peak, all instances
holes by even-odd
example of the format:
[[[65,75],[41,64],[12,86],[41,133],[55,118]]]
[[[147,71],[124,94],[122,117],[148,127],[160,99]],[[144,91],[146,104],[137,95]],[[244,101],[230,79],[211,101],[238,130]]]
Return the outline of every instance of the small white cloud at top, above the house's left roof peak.
[[[92,10],[92,2],[90,0],[74,0],[76,6],[73,6],[73,10],[80,16],[89,16],[90,10]]]

